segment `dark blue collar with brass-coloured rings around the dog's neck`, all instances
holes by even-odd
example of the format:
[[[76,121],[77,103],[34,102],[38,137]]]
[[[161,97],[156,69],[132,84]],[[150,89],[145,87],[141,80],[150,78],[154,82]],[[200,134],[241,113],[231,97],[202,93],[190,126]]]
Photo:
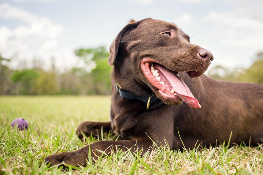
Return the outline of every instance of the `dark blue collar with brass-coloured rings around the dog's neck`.
[[[130,92],[122,91],[120,89],[121,87],[118,83],[116,83],[115,86],[116,86],[117,91],[120,93],[121,97],[140,100],[140,101],[143,101],[144,103],[147,103],[147,107],[146,107],[147,110],[149,109],[150,103],[153,103],[158,99],[156,96],[150,96],[150,97],[138,96],[138,95],[132,94]]]

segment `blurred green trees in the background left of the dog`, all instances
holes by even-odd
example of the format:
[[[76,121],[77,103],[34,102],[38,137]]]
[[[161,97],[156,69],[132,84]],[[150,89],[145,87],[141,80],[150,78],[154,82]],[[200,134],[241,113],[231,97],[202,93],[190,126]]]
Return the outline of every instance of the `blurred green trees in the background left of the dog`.
[[[33,69],[11,70],[2,62],[9,62],[0,55],[1,94],[111,94],[110,72],[105,47],[75,51],[82,66],[59,73],[53,64],[51,70],[37,65]]]

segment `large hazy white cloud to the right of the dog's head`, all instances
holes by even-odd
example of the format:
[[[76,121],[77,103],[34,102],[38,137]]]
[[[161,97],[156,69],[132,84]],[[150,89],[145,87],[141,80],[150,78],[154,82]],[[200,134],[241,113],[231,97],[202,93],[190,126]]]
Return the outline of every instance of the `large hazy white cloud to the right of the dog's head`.
[[[211,12],[203,26],[213,26],[207,34],[214,48],[215,60],[224,66],[247,67],[256,52],[263,50],[263,21],[234,12]],[[205,39],[207,40],[207,39]],[[215,62],[218,62],[215,61]]]

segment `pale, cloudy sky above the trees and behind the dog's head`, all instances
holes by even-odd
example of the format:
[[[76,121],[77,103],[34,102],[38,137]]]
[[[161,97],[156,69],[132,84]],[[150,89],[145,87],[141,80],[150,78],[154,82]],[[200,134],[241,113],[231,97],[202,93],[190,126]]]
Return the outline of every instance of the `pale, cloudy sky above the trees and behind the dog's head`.
[[[214,55],[210,68],[249,67],[263,51],[263,0],[0,0],[0,54],[14,68],[75,66],[74,50],[110,44],[129,19],[173,22]]]

